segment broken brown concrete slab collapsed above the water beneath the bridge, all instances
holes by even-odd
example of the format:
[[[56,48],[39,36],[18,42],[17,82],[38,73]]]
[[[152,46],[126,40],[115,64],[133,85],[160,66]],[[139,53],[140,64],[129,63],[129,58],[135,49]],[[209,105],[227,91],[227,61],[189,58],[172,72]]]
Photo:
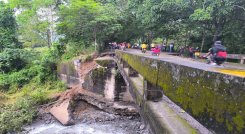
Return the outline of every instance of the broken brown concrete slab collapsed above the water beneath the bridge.
[[[138,116],[139,112],[134,105],[122,104],[117,102],[112,102],[105,99],[103,96],[93,93],[91,91],[83,90],[81,88],[71,89],[73,92],[72,97],[65,100],[60,100],[52,106],[50,113],[63,125],[73,125],[73,113],[74,103],[78,101],[85,101],[90,105],[93,105],[100,110],[107,113],[122,115],[122,116]],[[69,94],[69,93],[66,93]]]

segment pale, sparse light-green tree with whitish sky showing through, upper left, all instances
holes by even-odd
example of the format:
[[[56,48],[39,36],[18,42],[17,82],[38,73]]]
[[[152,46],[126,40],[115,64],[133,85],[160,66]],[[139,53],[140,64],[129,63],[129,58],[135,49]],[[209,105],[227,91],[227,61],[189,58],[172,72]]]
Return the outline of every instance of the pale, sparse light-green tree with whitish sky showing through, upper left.
[[[61,0],[10,0],[10,6],[18,13],[20,40],[27,47],[48,46],[55,40],[57,7]]]

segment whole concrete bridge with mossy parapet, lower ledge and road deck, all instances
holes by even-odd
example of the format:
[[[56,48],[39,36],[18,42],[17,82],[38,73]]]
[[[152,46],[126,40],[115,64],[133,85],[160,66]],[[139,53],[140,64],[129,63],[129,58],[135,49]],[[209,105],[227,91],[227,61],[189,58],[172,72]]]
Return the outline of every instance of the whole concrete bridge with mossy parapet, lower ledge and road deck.
[[[116,51],[145,121],[161,133],[245,133],[245,69]]]

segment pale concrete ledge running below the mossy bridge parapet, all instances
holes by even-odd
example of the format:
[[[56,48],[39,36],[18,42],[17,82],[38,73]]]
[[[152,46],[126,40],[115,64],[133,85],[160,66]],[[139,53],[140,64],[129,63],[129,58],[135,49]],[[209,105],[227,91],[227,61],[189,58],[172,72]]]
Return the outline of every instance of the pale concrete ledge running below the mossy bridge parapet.
[[[208,130],[199,132],[193,128],[188,122],[178,116],[167,104],[167,102],[147,101],[144,97],[143,79],[140,77],[129,77],[128,68],[123,68],[118,62],[119,70],[124,77],[131,95],[133,96],[141,117],[144,118],[146,124],[151,127],[154,134],[208,134]],[[127,70],[127,71],[126,71]]]

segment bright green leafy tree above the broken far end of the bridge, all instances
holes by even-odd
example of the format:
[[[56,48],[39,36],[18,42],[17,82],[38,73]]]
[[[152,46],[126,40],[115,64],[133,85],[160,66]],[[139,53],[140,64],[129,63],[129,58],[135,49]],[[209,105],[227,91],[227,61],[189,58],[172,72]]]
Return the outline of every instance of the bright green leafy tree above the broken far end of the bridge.
[[[108,37],[120,29],[118,11],[111,4],[94,0],[71,0],[60,8],[59,33],[64,41],[79,42],[85,47],[103,44]]]

